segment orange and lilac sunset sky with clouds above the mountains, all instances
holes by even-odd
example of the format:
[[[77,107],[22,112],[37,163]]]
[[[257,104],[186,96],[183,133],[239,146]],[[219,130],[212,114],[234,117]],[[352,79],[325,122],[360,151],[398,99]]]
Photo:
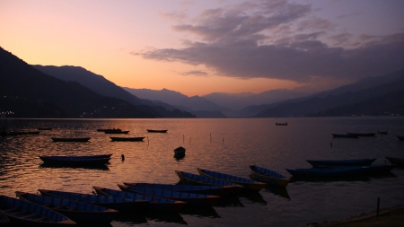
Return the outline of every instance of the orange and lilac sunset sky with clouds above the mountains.
[[[122,87],[321,92],[404,68],[402,0],[0,0],[0,47]]]

